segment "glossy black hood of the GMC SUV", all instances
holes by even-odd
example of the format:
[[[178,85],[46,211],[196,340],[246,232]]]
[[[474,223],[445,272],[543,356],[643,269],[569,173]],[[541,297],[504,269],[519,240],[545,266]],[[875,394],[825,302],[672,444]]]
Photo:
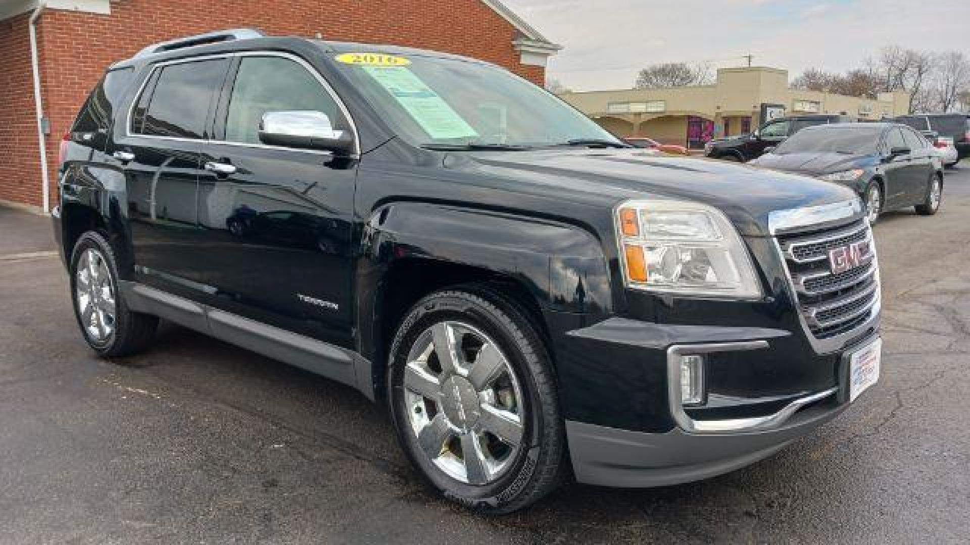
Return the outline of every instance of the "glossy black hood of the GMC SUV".
[[[739,163],[636,149],[452,153],[445,168],[507,179],[518,191],[614,207],[626,199],[679,199],[724,211],[749,237],[769,236],[773,210],[855,199],[835,184]]]

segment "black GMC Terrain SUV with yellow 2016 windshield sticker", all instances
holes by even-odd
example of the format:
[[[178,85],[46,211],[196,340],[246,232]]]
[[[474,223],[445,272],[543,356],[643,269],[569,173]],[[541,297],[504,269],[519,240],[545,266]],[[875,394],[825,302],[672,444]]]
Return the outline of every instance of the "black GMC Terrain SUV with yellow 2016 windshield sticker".
[[[346,383],[481,512],[749,465],[878,379],[852,191],[630,148],[469,58],[152,46],[91,93],[59,176],[95,351],[164,318]]]

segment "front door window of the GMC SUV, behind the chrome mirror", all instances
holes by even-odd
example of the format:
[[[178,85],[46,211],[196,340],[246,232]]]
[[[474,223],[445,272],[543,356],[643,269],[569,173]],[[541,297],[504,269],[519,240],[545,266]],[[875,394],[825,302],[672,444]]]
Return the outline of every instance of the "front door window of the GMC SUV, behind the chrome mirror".
[[[259,122],[266,112],[316,111],[345,128],[337,102],[301,64],[282,57],[242,57],[226,117],[226,141],[262,144]]]

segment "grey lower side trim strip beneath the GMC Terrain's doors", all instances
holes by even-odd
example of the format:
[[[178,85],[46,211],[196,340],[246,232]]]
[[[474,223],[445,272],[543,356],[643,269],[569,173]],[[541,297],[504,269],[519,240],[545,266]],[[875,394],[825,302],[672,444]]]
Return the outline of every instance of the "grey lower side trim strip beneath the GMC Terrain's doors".
[[[138,282],[121,281],[129,308],[354,386],[374,400],[372,364],[356,352],[298,335]]]

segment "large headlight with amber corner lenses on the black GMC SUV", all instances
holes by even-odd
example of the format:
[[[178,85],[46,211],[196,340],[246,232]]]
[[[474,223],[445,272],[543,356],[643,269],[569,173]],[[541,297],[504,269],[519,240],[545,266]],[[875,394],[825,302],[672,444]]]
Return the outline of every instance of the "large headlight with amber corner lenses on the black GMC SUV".
[[[736,299],[761,295],[737,231],[720,210],[680,201],[628,201],[617,208],[630,288]]]

